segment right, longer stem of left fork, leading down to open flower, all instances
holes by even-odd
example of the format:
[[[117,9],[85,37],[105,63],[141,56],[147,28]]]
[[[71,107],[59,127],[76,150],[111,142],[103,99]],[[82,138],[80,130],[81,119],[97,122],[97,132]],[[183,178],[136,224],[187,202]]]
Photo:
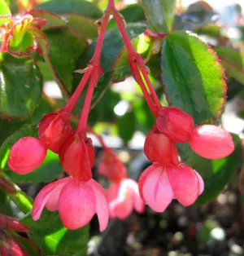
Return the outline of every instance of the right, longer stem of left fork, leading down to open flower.
[[[86,131],[88,115],[89,115],[89,106],[93,98],[95,86],[97,85],[97,82],[98,82],[99,67],[98,66],[94,67],[93,71],[94,71],[94,74],[89,81],[89,87],[85,95],[85,103],[82,109],[81,118],[77,126],[76,132],[85,133]]]

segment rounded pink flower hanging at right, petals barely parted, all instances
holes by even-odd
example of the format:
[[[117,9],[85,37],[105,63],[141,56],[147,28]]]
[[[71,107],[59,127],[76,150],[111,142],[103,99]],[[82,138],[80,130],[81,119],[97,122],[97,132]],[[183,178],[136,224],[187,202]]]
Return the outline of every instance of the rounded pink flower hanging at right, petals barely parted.
[[[163,212],[172,199],[184,206],[193,204],[203,188],[202,177],[184,164],[162,166],[154,163],[139,179],[142,199],[156,212]]]

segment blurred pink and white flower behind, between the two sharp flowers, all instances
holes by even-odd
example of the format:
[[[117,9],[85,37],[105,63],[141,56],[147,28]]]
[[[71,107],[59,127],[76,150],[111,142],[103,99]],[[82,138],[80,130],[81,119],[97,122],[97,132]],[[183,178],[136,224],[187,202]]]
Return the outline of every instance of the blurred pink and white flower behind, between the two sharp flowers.
[[[107,190],[107,201],[111,218],[127,218],[133,208],[142,213],[145,204],[142,201],[138,184],[133,179],[122,179],[119,183],[111,183]]]

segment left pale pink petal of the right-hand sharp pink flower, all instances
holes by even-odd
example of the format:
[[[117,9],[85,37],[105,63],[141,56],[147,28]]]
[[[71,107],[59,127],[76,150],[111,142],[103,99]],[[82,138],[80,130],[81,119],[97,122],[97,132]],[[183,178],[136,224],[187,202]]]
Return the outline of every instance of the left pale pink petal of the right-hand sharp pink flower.
[[[146,169],[146,177],[142,181],[142,195],[144,201],[156,212],[163,212],[173,198],[171,185],[168,175],[158,164],[153,164]],[[141,179],[139,180],[140,183]]]

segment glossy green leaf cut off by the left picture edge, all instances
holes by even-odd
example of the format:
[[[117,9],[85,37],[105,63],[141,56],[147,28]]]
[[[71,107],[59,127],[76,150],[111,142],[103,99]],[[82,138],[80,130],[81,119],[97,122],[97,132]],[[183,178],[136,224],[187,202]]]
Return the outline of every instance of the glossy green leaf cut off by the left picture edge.
[[[42,77],[33,60],[4,54],[0,62],[0,115],[27,118],[41,98]]]

